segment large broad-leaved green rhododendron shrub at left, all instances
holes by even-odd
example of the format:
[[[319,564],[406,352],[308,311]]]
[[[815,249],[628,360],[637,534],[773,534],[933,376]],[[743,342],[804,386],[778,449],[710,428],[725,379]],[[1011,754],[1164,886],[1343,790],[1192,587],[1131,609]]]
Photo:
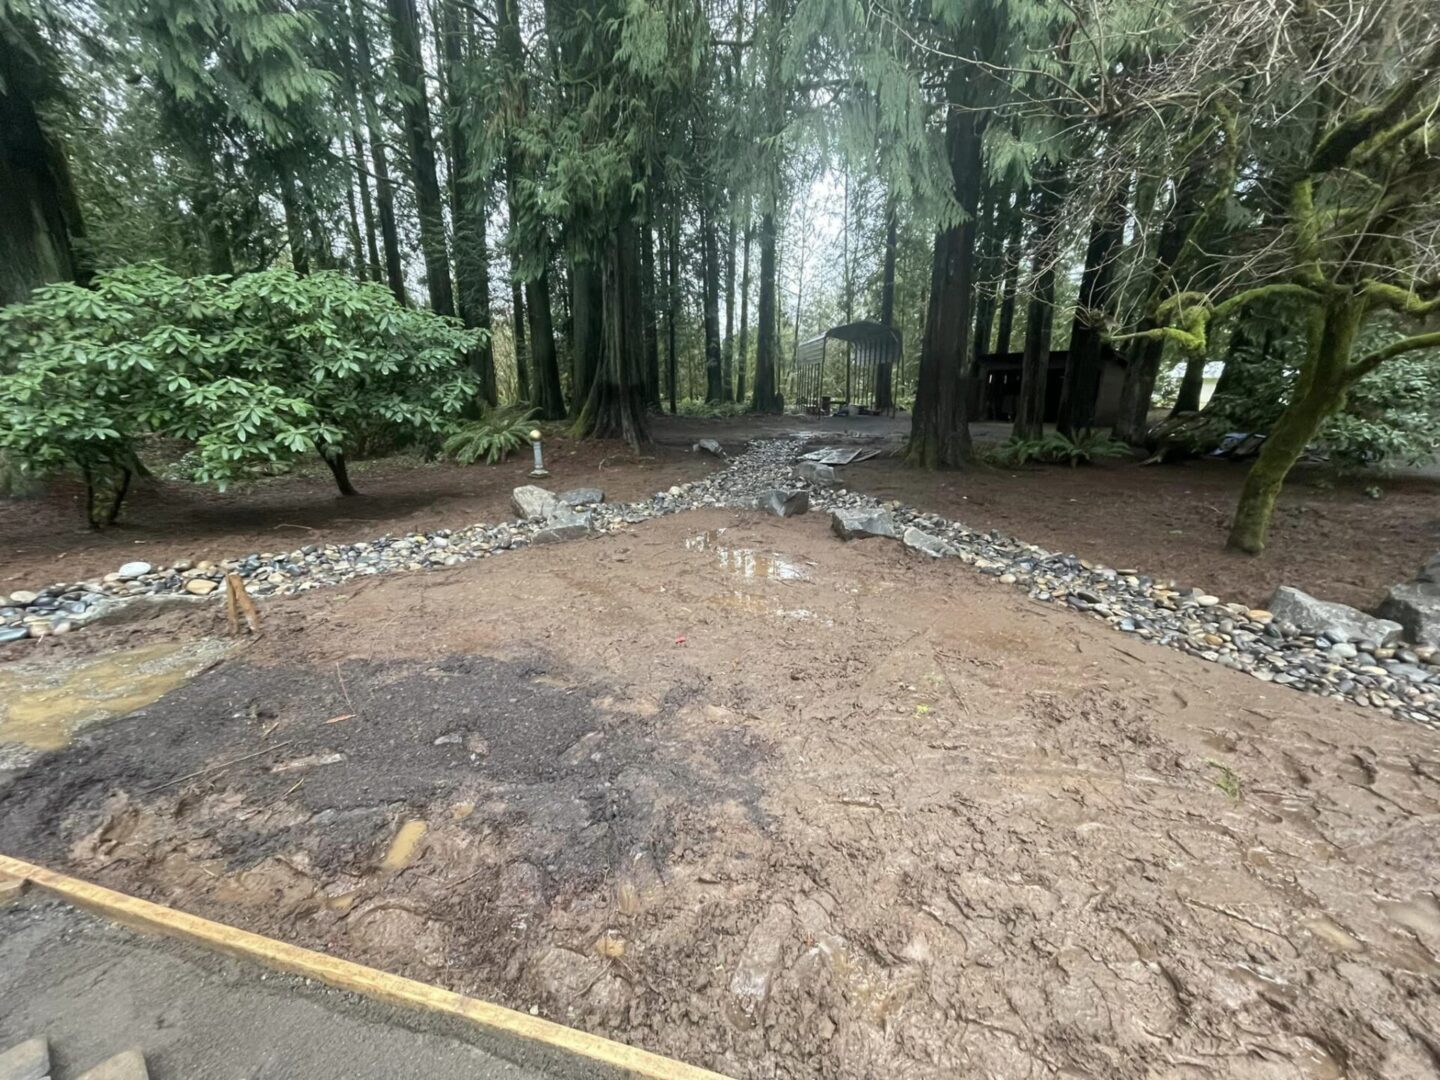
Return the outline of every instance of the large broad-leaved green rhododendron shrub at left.
[[[406,445],[452,429],[475,396],[478,340],[338,272],[125,266],[0,310],[0,452],[30,474],[78,469],[96,526],[118,513],[145,435],[190,444],[190,474],[220,488],[318,452],[353,494],[344,459],[361,432]]]

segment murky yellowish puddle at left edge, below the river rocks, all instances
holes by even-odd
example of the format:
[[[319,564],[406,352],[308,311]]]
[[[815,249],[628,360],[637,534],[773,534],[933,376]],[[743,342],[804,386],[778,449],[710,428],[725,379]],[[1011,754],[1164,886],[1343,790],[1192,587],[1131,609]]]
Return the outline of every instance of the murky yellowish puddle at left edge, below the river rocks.
[[[154,704],[200,674],[226,645],[144,645],[79,664],[26,664],[0,672],[0,743],[60,750],[75,733]]]

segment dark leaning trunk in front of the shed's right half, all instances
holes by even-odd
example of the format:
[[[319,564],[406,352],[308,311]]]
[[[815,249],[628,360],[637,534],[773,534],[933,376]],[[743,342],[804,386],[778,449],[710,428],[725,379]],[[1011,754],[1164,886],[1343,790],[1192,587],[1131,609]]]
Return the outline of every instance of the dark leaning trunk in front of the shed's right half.
[[[1060,416],[1056,428],[1070,438],[1094,426],[1094,405],[1100,393],[1106,346],[1102,337],[1104,311],[1115,289],[1115,258],[1125,243],[1125,209],[1129,204],[1129,179],[1090,222],[1080,295],[1070,328],[1066,354],[1066,383],[1060,392]]]

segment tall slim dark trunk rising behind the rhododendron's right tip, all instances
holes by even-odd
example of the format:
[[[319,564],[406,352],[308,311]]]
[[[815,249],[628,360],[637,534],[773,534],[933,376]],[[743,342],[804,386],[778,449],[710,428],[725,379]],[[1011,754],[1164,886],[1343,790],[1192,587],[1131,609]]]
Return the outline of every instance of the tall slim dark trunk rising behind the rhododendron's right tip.
[[[461,102],[468,101],[461,72],[465,63],[462,43],[469,39],[462,32],[461,0],[445,0],[441,9],[441,52],[445,56],[445,98],[448,104],[449,135],[449,194],[451,223],[455,230],[455,287],[459,301],[459,318],[471,330],[485,331],[485,340],[471,351],[469,364],[480,380],[481,399],[494,406],[498,400],[495,386],[495,351],[490,340],[490,255],[485,248],[487,199],[484,184],[474,176],[469,157],[469,131],[467,120],[472,118]]]

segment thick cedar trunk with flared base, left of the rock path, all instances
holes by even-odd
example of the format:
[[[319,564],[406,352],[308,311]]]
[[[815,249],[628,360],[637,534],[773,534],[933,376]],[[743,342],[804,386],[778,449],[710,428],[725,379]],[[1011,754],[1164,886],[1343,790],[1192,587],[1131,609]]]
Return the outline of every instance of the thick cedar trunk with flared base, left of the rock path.
[[[603,359],[576,431],[585,436],[622,438],[632,449],[649,442],[645,426],[645,317],[641,308],[641,258],[628,213],[605,245],[602,297]]]

